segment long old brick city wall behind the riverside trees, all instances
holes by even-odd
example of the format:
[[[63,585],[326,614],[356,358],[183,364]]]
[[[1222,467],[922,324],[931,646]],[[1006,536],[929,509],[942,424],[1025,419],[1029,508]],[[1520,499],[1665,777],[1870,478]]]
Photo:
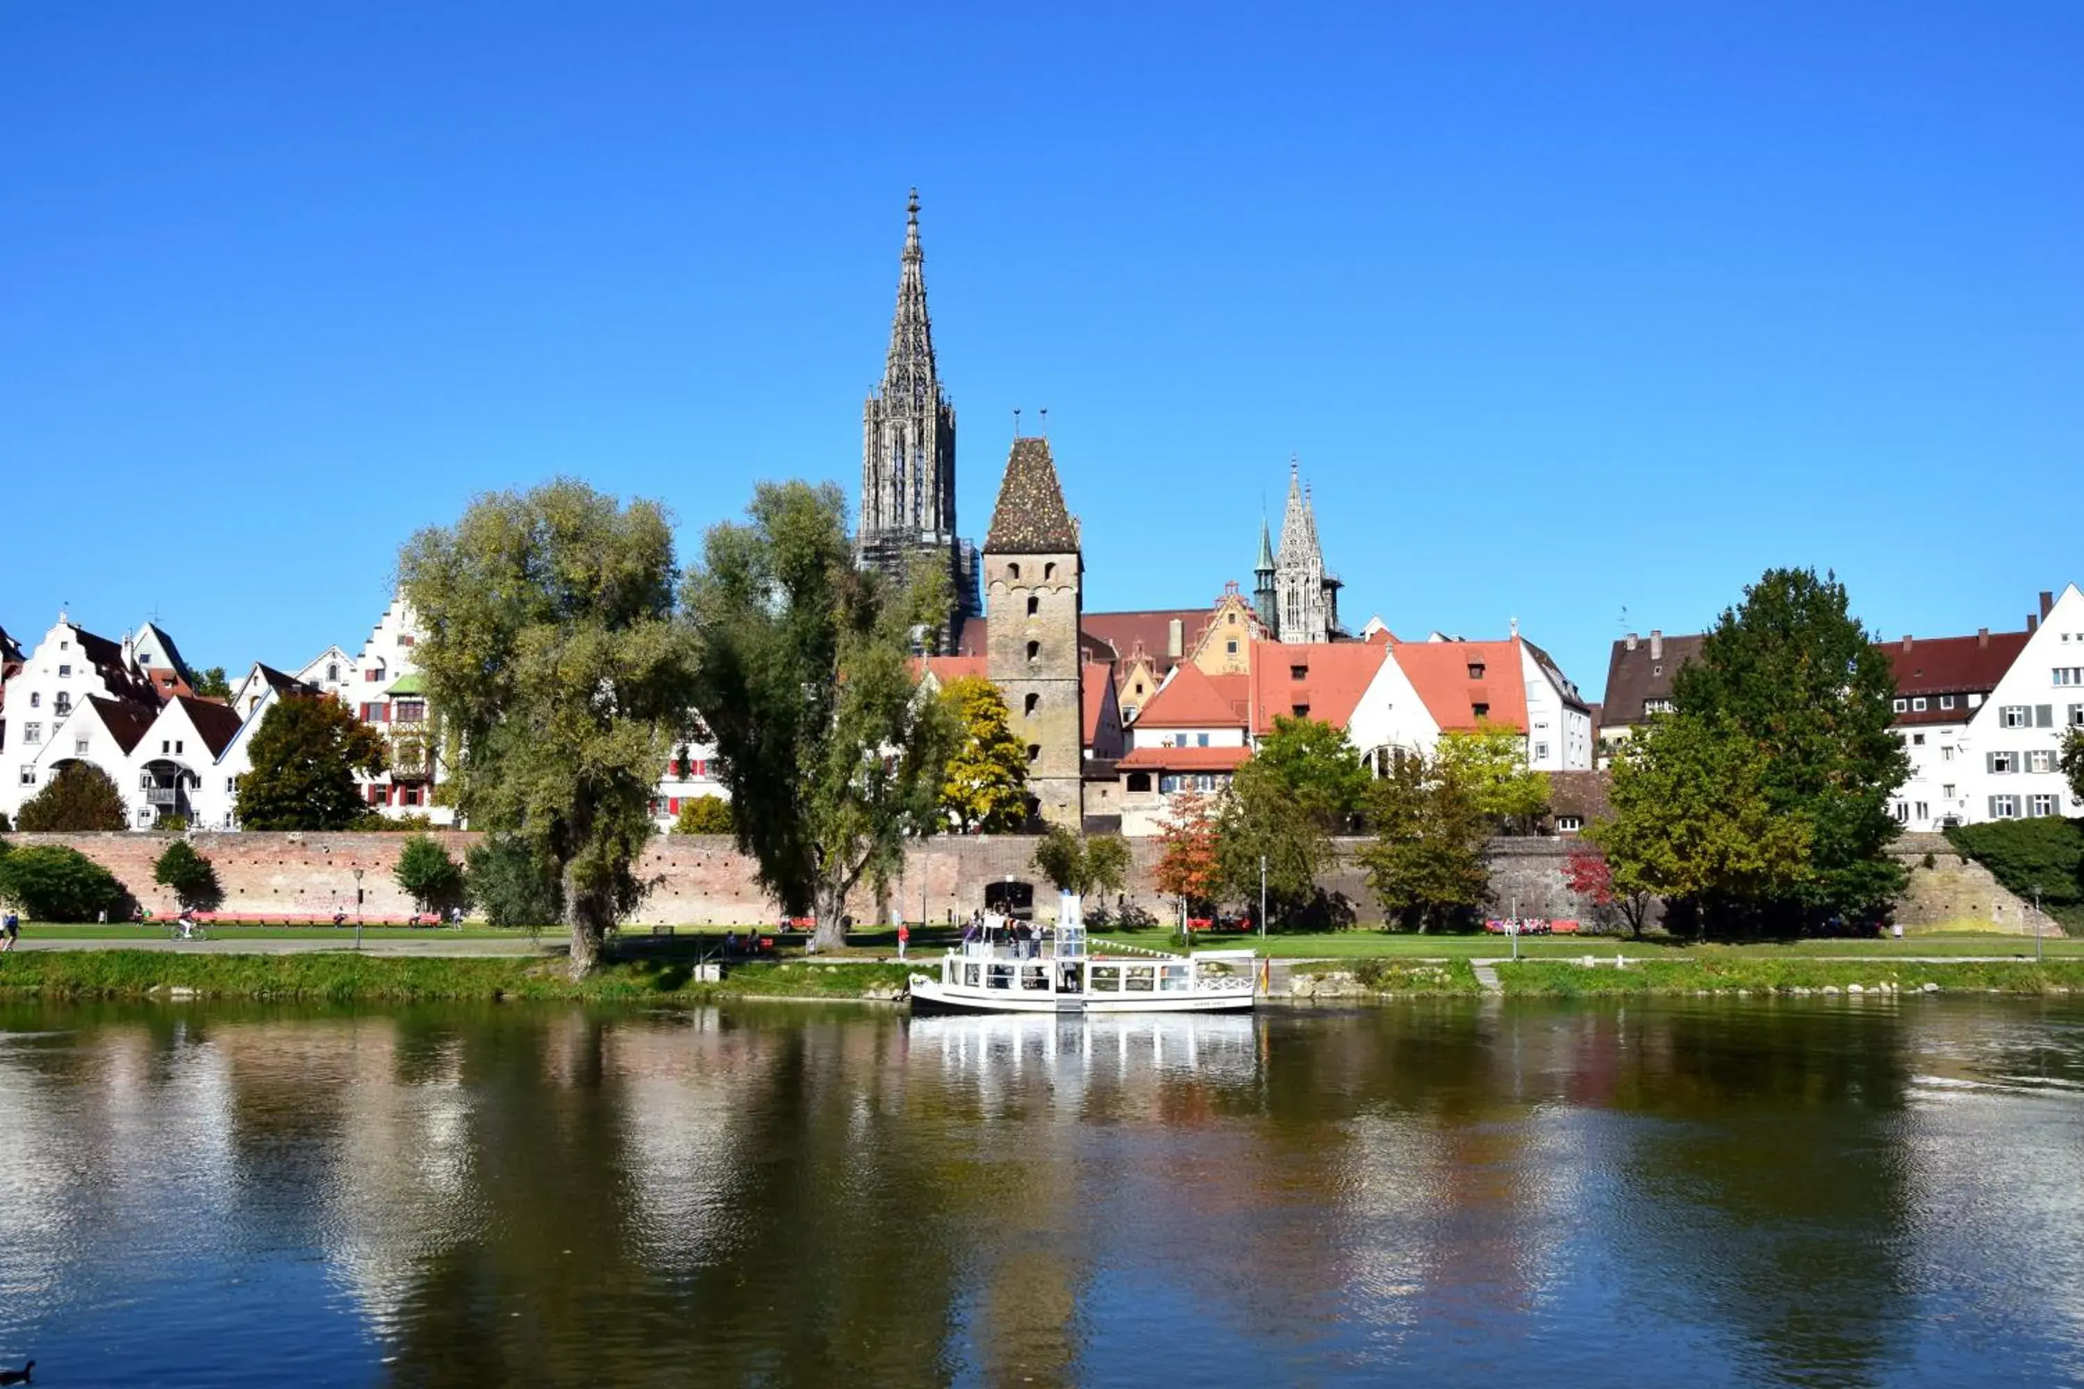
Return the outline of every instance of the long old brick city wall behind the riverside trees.
[[[13,843],[69,843],[115,873],[146,908],[171,912],[173,893],[152,883],[152,862],[171,839],[173,835],[142,833],[15,835]],[[190,843],[217,866],[227,912],[352,912],[354,870],[361,868],[363,910],[369,916],[404,916],[413,910],[413,900],[392,877],[404,839],[406,835],[354,833],[198,833]],[[433,839],[463,860],[481,835],[433,831]],[[909,920],[963,918],[984,906],[988,883],[1013,879],[1036,887],[1036,906],[1048,916],[1050,887],[1034,870],[1034,845],[1027,835],[919,841],[911,845],[904,873],[892,883],[886,902],[861,889],[848,906],[857,920],[888,920],[898,908]],[[1380,920],[1375,895],[1355,860],[1363,845],[1361,839],[1342,839],[1340,862],[1325,873],[1323,885],[1344,895],[1361,923],[1373,923]],[[1509,912],[1517,902],[1523,916],[1592,918],[1592,906],[1563,885],[1563,860],[1578,848],[1578,839],[1492,841],[1494,908]],[[1130,839],[1123,898],[1163,916],[1171,902],[1152,885],[1159,852],[1157,839]],[[2026,904],[1999,887],[1988,870],[1955,854],[1942,835],[1905,835],[1894,854],[1911,868],[1911,889],[1896,908],[1905,927],[1974,918],[2003,929],[2028,929]],[[1924,866],[1926,854],[1934,860],[1932,868]],[[640,923],[763,925],[777,916],[752,862],[738,854],[727,835],[661,835],[644,852],[638,873],[652,883],[638,908]]]

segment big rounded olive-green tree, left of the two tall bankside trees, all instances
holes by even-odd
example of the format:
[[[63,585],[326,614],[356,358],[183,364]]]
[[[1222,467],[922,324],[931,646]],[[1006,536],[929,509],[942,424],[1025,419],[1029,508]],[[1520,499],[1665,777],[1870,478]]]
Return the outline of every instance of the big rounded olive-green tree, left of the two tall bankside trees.
[[[671,523],[571,479],[486,494],[454,529],[415,535],[398,579],[442,710],[448,800],[556,873],[584,977],[642,900],[650,793],[694,718]]]

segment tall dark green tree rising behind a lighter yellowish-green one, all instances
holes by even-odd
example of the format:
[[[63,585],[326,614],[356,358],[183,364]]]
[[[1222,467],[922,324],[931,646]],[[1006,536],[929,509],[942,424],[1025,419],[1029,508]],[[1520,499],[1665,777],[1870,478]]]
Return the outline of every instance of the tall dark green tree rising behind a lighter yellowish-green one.
[[[1894,666],[1836,575],[1769,569],[1721,614],[1673,685],[1698,729],[1757,748],[1773,816],[1809,827],[1803,870],[1761,904],[1786,925],[1876,918],[1907,873],[1888,856],[1888,800],[1911,771],[1890,727]]]

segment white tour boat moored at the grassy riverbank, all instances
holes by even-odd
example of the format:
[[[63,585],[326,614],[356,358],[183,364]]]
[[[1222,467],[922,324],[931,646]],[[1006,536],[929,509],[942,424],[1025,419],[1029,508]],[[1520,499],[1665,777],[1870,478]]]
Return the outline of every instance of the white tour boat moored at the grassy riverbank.
[[[1071,893],[1055,929],[1019,941],[990,916],[940,973],[911,977],[915,1012],[1248,1012],[1255,993],[1250,950],[1090,954]]]

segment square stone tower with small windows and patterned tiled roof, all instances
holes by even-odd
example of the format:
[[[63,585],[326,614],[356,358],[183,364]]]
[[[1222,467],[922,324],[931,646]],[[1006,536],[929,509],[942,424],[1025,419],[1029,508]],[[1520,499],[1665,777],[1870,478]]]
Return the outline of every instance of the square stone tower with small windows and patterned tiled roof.
[[[1027,748],[1029,818],[1077,831],[1086,818],[1084,564],[1048,439],[1013,439],[984,537],[984,671],[1007,696],[1013,735]]]

